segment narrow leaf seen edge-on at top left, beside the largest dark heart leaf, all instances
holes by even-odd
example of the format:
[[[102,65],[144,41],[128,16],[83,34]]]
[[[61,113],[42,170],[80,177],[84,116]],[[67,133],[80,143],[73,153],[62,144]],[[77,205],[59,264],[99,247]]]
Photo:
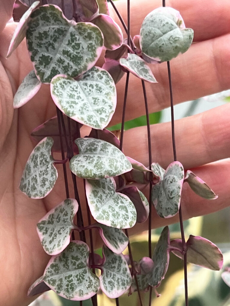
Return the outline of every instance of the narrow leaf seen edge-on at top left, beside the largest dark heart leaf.
[[[39,1],[34,2],[30,8],[21,17],[21,20],[17,24],[17,28],[13,33],[13,37],[10,42],[10,47],[8,49],[6,57],[8,58],[11,53],[19,46],[22,40],[25,38],[26,28],[28,25],[29,17],[33,10],[39,5]]]

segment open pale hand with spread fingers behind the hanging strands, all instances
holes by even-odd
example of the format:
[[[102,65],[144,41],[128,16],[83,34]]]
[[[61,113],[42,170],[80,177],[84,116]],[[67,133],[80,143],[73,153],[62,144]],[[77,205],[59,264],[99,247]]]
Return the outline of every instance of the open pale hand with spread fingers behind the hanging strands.
[[[18,186],[25,163],[33,150],[30,132],[55,115],[49,86],[42,90],[25,106],[13,110],[13,95],[32,65],[25,42],[9,59],[5,59],[10,39],[15,28],[8,24],[13,0],[0,0],[0,304],[25,306],[29,286],[43,274],[49,256],[44,252],[36,233],[36,223],[47,211],[65,198],[62,166],[58,165],[59,178],[52,192],[43,200],[31,200],[21,193]],[[144,17],[161,6],[159,0],[132,0],[132,35],[139,33]],[[116,2],[126,20],[126,1]],[[187,27],[194,29],[194,41],[190,49],[171,61],[174,103],[197,99],[230,88],[230,2],[229,0],[171,0],[167,6],[178,9]],[[138,14],[138,15],[137,15]],[[117,21],[113,10],[111,15]],[[118,21],[117,21],[118,22]],[[119,22],[118,22],[119,23]],[[6,26],[6,27],[5,27]],[[151,112],[169,106],[169,90],[166,63],[152,66],[158,84],[146,84]],[[117,84],[118,104],[111,124],[121,121],[125,78]],[[230,104],[203,114],[175,122],[178,160],[185,169],[192,169],[218,194],[214,201],[196,196],[184,186],[182,191],[182,213],[184,219],[205,215],[230,204],[229,157],[230,152]],[[144,114],[144,101],[139,79],[131,76],[126,119]],[[171,125],[158,124],[151,127],[152,159],[167,167],[173,161]],[[125,133],[126,155],[148,165],[146,127]],[[69,180],[71,183],[71,181]],[[81,182],[79,182],[81,184]],[[185,184],[186,185],[186,184]],[[79,186],[85,224],[86,211],[82,185]],[[147,192],[148,193],[148,192]],[[71,197],[73,192],[71,190]],[[152,214],[152,226],[158,227],[178,221],[178,217],[161,219]],[[140,231],[147,223],[137,226]],[[130,233],[133,231],[130,230]],[[78,237],[77,237],[78,238]],[[99,245],[100,241],[97,242]]]

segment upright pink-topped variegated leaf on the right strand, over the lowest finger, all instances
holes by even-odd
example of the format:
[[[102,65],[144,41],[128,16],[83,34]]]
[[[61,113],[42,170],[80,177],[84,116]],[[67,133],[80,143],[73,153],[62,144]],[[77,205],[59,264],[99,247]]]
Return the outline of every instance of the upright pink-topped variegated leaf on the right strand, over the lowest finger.
[[[163,180],[152,187],[151,202],[162,218],[171,218],[180,207],[184,169],[180,162],[172,162],[166,169]]]

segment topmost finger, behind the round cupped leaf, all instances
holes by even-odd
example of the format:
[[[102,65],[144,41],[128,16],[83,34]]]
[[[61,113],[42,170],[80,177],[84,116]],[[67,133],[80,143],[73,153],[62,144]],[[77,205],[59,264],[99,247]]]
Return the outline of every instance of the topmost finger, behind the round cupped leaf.
[[[120,0],[115,2],[115,5],[127,24],[127,1]],[[139,35],[140,26],[145,16],[159,6],[162,6],[161,0],[142,0],[141,2],[132,0],[130,10],[132,36]],[[230,2],[228,0],[168,0],[166,6],[171,6],[181,13],[186,27],[194,30],[194,41],[214,38],[230,31]],[[121,26],[111,7],[110,12]]]

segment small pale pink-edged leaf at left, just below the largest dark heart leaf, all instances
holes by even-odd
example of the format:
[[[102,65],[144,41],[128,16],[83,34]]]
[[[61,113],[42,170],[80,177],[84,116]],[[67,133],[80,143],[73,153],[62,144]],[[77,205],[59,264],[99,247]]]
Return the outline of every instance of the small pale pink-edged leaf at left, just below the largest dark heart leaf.
[[[34,70],[25,77],[13,98],[13,108],[19,108],[32,99],[41,88]]]

